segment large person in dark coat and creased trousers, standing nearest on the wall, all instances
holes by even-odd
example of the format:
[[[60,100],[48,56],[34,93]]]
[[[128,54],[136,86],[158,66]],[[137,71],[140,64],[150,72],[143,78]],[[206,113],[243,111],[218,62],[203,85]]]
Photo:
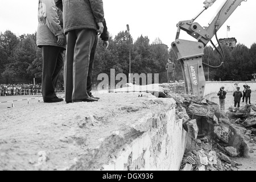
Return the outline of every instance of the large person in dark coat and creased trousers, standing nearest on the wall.
[[[64,63],[65,101],[94,102],[87,87],[90,55],[96,36],[104,31],[102,0],[55,0],[63,11],[64,34],[67,35],[67,51]],[[90,73],[89,73],[90,74]]]

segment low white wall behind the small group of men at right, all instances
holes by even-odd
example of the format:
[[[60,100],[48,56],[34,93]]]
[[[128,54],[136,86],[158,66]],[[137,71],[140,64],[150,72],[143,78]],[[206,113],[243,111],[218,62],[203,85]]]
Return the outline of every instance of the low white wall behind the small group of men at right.
[[[236,85],[240,86],[240,90],[243,90],[243,85],[249,85],[251,91],[256,91],[255,81],[207,81],[205,84],[204,96],[211,93],[218,93],[221,86],[225,86],[226,92],[236,91]]]

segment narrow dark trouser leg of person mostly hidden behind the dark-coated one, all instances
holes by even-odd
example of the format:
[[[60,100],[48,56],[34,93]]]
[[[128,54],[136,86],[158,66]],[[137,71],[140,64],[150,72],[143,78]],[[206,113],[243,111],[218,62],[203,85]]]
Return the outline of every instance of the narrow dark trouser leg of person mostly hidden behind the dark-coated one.
[[[90,52],[90,63],[89,63],[89,71],[88,71],[88,76],[87,76],[87,93],[91,97],[92,96],[92,73],[93,73],[93,61],[96,53],[96,48],[97,48],[97,43],[98,43],[98,36],[96,35],[95,41],[92,47],[92,51]]]

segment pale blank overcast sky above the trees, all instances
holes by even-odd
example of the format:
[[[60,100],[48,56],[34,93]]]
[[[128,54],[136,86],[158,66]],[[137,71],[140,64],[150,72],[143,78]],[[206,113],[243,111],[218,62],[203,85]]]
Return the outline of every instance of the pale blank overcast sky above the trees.
[[[225,0],[217,0],[195,22],[207,26]],[[204,0],[104,0],[105,19],[114,37],[126,30],[136,40],[148,36],[150,43],[156,38],[171,47],[176,36],[176,24],[194,18],[203,9]],[[0,32],[10,30],[16,35],[32,34],[38,26],[38,0],[0,0]],[[226,31],[230,26],[230,31]],[[242,2],[217,32],[218,38],[236,38],[250,48],[256,42],[256,1]],[[180,39],[194,40],[181,32]],[[216,40],[213,38],[213,42]],[[208,44],[209,46],[209,44]]]

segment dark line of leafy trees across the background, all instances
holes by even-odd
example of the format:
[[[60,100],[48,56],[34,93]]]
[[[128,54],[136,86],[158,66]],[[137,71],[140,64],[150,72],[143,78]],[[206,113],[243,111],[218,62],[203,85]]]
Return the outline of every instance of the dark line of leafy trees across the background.
[[[183,80],[181,65],[176,59],[174,51],[164,45],[159,38],[151,44],[147,36],[140,36],[133,40],[128,31],[119,32],[114,38],[109,38],[109,48],[105,49],[102,40],[98,39],[96,56],[93,68],[93,83],[97,84],[98,75],[106,73],[110,77],[110,69],[115,69],[115,74],[129,75],[131,57],[131,73],[159,73],[159,82],[167,82],[166,63],[168,57],[176,64],[176,80]],[[224,65],[218,69],[204,68],[206,80],[216,81],[248,81],[253,77],[256,67],[256,44],[247,48],[237,44],[230,48],[222,45],[225,53]],[[219,65],[222,58],[216,49],[206,46],[203,62],[210,65]],[[10,30],[0,34],[0,82],[6,84],[30,84],[36,80],[42,81],[42,53],[36,46],[35,34],[16,36]],[[152,79],[154,80],[154,78]],[[117,81],[119,82],[119,81]],[[59,83],[63,84],[63,72]]]

